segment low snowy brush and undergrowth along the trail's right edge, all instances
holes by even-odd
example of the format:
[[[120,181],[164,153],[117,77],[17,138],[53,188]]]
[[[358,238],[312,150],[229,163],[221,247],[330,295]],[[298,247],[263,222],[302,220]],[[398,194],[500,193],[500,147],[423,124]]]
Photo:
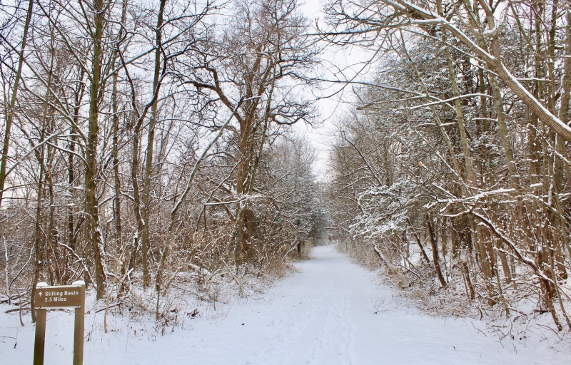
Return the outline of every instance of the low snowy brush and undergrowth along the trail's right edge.
[[[368,245],[367,245],[368,243]],[[463,284],[462,273],[453,268],[447,273],[450,281],[445,287],[440,287],[435,271],[431,264],[420,260],[418,250],[413,249],[411,243],[411,257],[417,256],[414,266],[404,267],[402,263],[387,264],[383,262],[378,253],[371,248],[370,242],[358,242],[345,240],[338,245],[340,252],[345,252],[355,262],[380,274],[384,284],[395,289],[398,296],[425,314],[438,317],[455,317],[463,319],[475,319],[479,324],[472,324],[486,336],[493,334],[503,341],[511,339],[517,343],[528,338],[537,341],[552,341],[555,343],[569,344],[571,337],[569,329],[557,331],[550,314],[542,307],[537,298],[540,297],[539,284],[513,280],[511,285],[504,287],[503,294],[509,303],[509,314],[506,314],[502,304],[486,300],[483,295],[477,295],[476,299],[470,300],[467,289]],[[514,288],[515,286],[515,288]],[[482,292],[485,288],[477,284]],[[567,294],[571,292],[567,281],[560,283]],[[569,307],[566,302],[566,308]],[[397,305],[390,303],[373,303],[375,312],[395,310]],[[567,309],[568,310],[568,309]],[[517,347],[510,344],[510,349],[517,352]]]

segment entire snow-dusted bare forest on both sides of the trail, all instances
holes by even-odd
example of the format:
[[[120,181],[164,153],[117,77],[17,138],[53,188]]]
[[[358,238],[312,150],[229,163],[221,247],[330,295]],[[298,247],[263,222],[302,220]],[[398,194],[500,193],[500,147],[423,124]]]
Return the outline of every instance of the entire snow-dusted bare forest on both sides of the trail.
[[[83,279],[165,326],[174,287],[334,240],[428,312],[571,329],[567,1],[13,0],[0,47],[1,303]]]

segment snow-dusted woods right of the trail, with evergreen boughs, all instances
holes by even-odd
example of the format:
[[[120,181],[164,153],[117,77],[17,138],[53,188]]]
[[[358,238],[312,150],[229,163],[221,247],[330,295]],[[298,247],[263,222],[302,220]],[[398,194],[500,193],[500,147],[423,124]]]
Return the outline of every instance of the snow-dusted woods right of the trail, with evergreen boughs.
[[[550,313],[570,329],[570,4],[335,1],[328,14],[332,41],[374,45],[378,63],[332,152],[348,250],[428,311]]]

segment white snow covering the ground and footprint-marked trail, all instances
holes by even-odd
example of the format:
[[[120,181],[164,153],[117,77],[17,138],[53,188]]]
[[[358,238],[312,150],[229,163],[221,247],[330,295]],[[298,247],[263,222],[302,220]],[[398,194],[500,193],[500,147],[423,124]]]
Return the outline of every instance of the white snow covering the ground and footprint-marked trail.
[[[116,331],[103,334],[94,330],[102,313],[88,314],[84,364],[570,364],[565,344],[500,343],[482,322],[421,314],[333,246],[315,247],[312,256],[266,293],[218,306],[218,316],[188,319],[172,333],[152,324],[135,333],[113,319]],[[21,327],[3,310],[0,364],[31,364],[33,345],[34,326]],[[49,312],[44,364],[71,364],[72,345],[73,314]]]

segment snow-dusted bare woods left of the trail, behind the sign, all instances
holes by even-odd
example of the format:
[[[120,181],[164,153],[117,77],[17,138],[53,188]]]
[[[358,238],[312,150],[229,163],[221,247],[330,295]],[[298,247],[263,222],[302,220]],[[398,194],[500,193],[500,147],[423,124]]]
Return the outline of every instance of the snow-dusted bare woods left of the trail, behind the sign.
[[[3,4],[2,300],[267,270],[325,219],[295,1]],[[113,304],[111,304],[113,305]],[[168,311],[167,311],[168,312]],[[34,311],[31,311],[34,316]]]

